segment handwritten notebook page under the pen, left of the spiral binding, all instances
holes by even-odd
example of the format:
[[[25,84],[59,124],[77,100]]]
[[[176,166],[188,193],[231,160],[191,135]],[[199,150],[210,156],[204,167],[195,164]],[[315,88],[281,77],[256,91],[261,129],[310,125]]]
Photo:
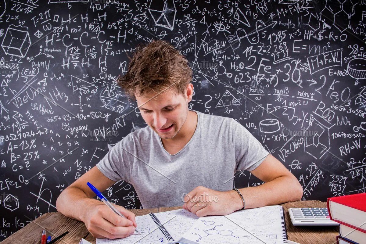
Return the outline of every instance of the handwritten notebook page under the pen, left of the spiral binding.
[[[167,243],[165,237],[158,229],[157,225],[150,217],[149,214],[137,216],[137,229],[141,233],[132,234],[125,238],[120,239],[108,239],[108,238],[97,238],[97,244],[162,244]],[[162,224],[164,222],[161,222]],[[164,240],[164,242],[162,242]]]

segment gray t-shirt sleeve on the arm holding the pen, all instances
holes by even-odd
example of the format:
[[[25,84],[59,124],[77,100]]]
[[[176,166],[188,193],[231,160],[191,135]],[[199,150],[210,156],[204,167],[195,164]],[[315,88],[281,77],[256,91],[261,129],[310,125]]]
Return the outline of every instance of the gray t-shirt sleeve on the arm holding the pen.
[[[107,178],[130,182],[131,169],[134,159],[133,140],[129,135],[117,142],[111,150],[98,162],[97,168]]]

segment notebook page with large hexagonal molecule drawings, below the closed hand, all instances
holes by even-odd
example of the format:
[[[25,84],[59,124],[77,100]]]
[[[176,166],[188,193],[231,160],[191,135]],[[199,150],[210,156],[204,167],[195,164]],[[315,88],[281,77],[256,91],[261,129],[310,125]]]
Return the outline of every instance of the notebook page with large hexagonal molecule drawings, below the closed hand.
[[[183,238],[201,244],[284,243],[281,208],[266,206],[224,216],[200,217]]]

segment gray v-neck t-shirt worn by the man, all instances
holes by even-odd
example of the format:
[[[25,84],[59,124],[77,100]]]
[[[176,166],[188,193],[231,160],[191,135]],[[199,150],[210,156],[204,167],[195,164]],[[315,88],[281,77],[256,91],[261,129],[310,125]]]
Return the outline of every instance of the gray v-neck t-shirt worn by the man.
[[[192,110],[195,132],[169,154],[149,125],[131,132],[97,164],[109,179],[131,183],[143,208],[182,206],[184,194],[202,185],[216,191],[233,187],[237,170],[254,170],[268,151],[238,121]]]

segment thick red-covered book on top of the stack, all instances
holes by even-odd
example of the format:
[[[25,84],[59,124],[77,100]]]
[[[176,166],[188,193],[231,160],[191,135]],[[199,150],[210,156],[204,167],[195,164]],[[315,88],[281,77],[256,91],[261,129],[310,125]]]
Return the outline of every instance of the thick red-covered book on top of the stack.
[[[328,198],[327,206],[330,219],[366,233],[366,193]]]

